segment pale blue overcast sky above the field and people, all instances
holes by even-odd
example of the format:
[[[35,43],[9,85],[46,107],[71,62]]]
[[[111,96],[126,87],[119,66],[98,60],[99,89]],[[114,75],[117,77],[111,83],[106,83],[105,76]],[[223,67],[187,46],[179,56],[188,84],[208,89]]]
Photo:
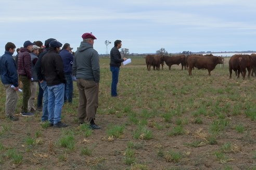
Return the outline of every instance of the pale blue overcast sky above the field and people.
[[[130,53],[256,50],[253,0],[0,0],[0,48],[56,38],[76,49],[92,32],[94,49],[122,40]]]

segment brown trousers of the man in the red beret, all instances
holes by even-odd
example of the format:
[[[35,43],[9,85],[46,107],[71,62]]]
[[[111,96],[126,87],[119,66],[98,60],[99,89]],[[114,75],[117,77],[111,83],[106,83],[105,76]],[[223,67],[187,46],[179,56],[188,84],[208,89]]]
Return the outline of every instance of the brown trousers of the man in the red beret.
[[[79,89],[78,121],[83,123],[95,119],[98,108],[99,85],[95,81],[77,79],[76,84]]]

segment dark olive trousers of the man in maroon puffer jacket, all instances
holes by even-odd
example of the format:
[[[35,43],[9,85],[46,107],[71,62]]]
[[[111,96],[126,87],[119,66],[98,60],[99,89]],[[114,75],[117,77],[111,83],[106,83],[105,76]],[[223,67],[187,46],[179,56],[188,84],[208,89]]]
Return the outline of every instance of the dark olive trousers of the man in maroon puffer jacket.
[[[20,80],[23,84],[23,100],[22,100],[22,107],[21,112],[28,112],[28,103],[30,97],[30,82],[31,80],[28,79],[27,76],[20,75]]]

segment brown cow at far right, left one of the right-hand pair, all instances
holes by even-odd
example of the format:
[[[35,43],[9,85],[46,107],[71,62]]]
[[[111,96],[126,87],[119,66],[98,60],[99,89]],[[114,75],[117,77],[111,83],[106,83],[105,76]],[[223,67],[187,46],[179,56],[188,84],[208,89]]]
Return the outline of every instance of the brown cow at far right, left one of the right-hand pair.
[[[229,60],[229,78],[232,77],[232,69],[235,71],[237,78],[239,78],[240,73],[242,79],[245,79],[246,68],[248,70],[248,77],[251,74],[251,56],[248,54],[235,54],[231,56]]]

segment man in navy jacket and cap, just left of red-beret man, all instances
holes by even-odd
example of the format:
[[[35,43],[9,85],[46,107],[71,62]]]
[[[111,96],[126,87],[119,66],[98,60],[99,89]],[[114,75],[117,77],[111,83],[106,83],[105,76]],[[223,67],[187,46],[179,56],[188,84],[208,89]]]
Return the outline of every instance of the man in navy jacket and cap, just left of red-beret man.
[[[65,84],[64,102],[69,103],[72,103],[73,95],[72,64],[74,59],[72,53],[70,52],[72,49],[70,47],[70,44],[66,43],[64,44],[62,50],[59,53],[63,62],[64,75],[67,81]]]

